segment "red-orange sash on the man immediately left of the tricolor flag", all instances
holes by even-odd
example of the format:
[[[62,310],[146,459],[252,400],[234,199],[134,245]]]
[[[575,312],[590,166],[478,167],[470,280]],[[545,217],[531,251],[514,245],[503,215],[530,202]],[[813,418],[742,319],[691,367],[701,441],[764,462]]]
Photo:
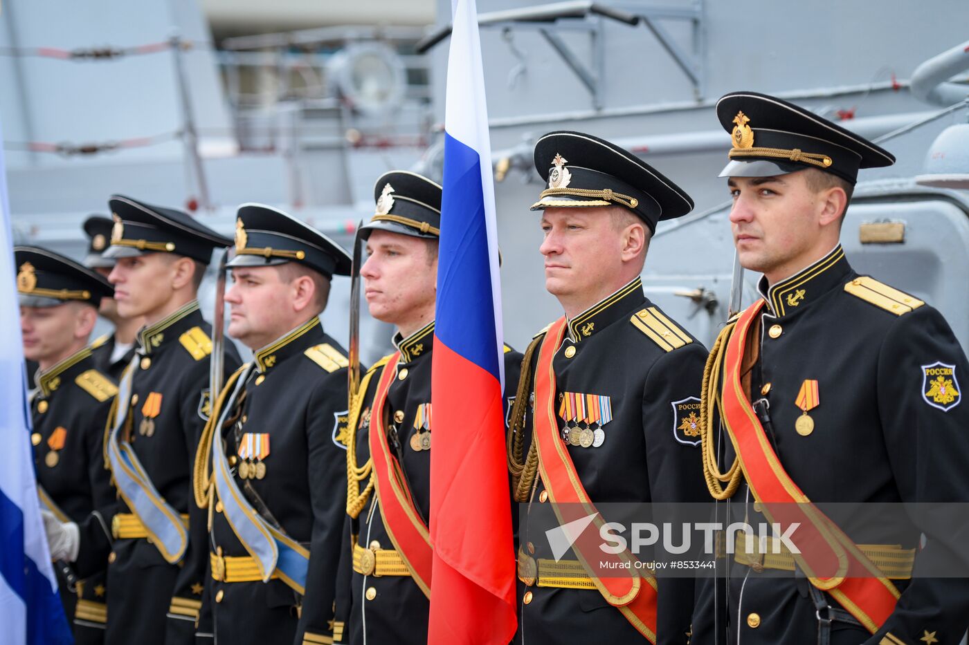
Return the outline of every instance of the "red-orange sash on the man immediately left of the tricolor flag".
[[[430,535],[414,505],[414,498],[400,464],[387,443],[387,411],[384,408],[391,384],[396,377],[399,359],[399,352],[391,355],[377,384],[370,424],[370,456],[373,459],[377,499],[380,502],[384,526],[387,527],[387,533],[391,536],[397,553],[411,570],[414,581],[421,587],[424,596],[430,598],[430,570],[433,561]]]

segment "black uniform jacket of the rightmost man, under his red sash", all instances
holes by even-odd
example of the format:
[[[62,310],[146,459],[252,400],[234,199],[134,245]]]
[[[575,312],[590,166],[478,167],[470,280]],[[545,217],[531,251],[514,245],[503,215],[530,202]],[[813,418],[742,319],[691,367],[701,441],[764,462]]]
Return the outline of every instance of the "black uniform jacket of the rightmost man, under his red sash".
[[[760,290],[766,306],[749,395],[768,401],[774,450],[807,498],[969,501],[969,407],[960,400],[958,381],[969,375],[969,362],[942,315],[914,296],[860,277],[840,245],[773,286],[762,280]],[[933,391],[937,377],[926,376],[936,363],[951,370],[951,382],[943,383],[948,392]],[[796,401],[805,380],[817,381],[819,405],[808,411],[813,432],[801,436],[795,424],[803,411]],[[723,471],[735,452],[725,432],[718,444]],[[753,523],[766,521],[753,503],[742,482],[718,506],[741,505]],[[900,513],[887,520],[872,515],[879,507],[856,508],[837,519],[856,544],[917,549],[922,529],[929,532]],[[720,565],[721,575],[729,570],[726,581],[699,583],[694,643],[820,642],[819,618],[829,615],[841,618],[831,623],[830,643],[958,643],[969,625],[969,580],[920,577],[918,571],[930,566],[938,572],[947,563],[966,570],[969,537],[964,528],[926,537],[915,556],[916,577],[892,581],[901,598],[874,635],[846,612],[837,613],[838,602],[819,596],[803,575],[779,578],[776,571],[758,572],[730,559]]]

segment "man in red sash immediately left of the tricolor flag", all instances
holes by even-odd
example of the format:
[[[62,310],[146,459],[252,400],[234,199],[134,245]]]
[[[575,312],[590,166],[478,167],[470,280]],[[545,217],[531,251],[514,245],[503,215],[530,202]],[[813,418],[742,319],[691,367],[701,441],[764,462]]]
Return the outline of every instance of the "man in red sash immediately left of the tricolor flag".
[[[377,361],[352,399],[346,497],[351,521],[345,534],[346,565],[337,594],[335,642],[427,642],[430,590],[430,546],[409,539],[425,531],[430,507],[431,355],[434,350],[434,305],[437,251],[441,228],[441,186],[413,172],[391,171],[374,186],[376,210],[359,231],[367,259],[360,267],[370,315],[396,328],[395,353]],[[505,348],[506,389],[513,390],[521,354]],[[385,371],[392,382],[383,401],[375,403]],[[508,393],[506,392],[506,396]],[[384,436],[371,437],[377,420]],[[413,504],[400,504],[387,470],[371,454],[382,441],[400,464],[403,486]],[[374,487],[377,490],[374,490]],[[392,507],[389,505],[393,505]],[[400,510],[408,507],[402,519]],[[392,512],[391,512],[392,510]],[[405,524],[406,523],[406,524]]]

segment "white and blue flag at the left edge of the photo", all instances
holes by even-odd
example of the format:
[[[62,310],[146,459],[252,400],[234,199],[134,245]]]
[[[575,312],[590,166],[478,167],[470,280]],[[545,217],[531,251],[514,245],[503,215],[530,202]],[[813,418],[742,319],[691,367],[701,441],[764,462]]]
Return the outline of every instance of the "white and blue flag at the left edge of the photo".
[[[0,640],[60,645],[74,638],[57,595],[37,497],[2,150],[0,208]]]

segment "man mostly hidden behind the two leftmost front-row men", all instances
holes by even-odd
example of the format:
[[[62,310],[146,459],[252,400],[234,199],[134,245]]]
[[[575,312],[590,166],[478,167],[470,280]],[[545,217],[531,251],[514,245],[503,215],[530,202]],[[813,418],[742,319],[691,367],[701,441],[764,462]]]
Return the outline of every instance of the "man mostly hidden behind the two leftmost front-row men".
[[[84,265],[104,276],[106,279],[114,268],[115,260],[106,258],[104,252],[108,249],[113,222],[109,217],[91,215],[84,220],[84,234],[87,235],[87,255]],[[103,298],[98,314],[107,319],[113,329],[91,342],[91,351],[99,367],[115,382],[121,378],[121,372],[131,362],[135,355],[135,336],[144,324],[141,317],[123,318],[118,316],[117,303],[113,297]]]

